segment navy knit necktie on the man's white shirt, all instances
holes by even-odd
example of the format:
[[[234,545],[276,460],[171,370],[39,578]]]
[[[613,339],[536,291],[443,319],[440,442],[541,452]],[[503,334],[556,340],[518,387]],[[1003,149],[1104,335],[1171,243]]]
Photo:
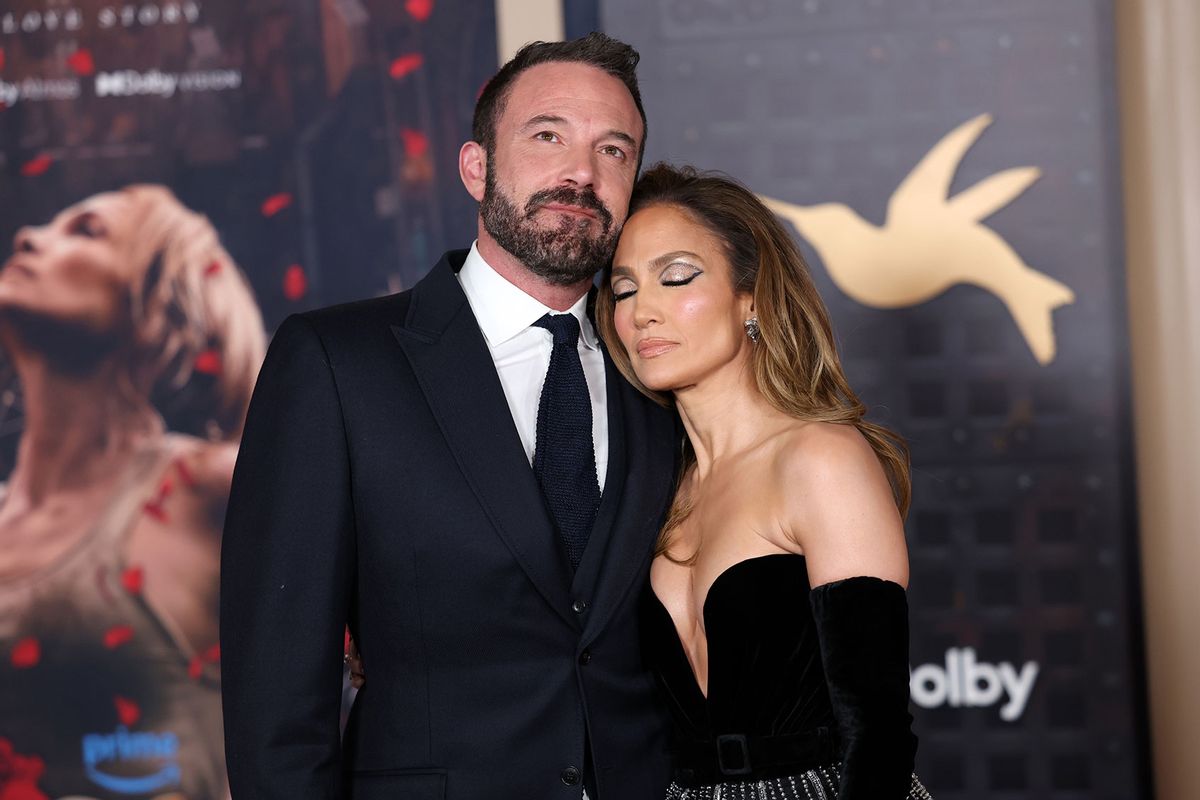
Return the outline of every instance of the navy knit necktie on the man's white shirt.
[[[546,314],[534,325],[554,336],[554,348],[538,401],[533,471],[571,569],[576,569],[600,505],[592,445],[592,398],[578,351],[580,321],[570,313]]]

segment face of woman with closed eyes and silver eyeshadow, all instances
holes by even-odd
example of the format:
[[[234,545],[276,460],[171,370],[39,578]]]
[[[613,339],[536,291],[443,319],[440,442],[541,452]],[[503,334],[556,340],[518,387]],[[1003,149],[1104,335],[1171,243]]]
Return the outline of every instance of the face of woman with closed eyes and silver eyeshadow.
[[[613,257],[614,323],[647,389],[678,391],[749,353],[749,294],[733,290],[724,242],[688,212],[655,205],[625,223]]]

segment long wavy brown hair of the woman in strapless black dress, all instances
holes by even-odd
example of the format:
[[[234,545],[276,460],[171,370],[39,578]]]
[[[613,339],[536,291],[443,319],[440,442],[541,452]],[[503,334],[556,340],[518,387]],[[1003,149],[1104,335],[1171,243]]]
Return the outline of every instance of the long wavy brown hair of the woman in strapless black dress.
[[[660,205],[678,209],[712,231],[725,246],[734,291],[752,295],[761,333],[750,361],[758,391],[773,407],[796,419],[858,428],[887,474],[900,515],[906,515],[911,497],[908,449],[899,435],[865,420],[866,407],[842,372],[829,312],[808,264],[775,215],[754,192],[726,175],[662,163],[637,181],[629,215]],[[596,297],[596,321],[608,353],[642,393],[671,405],[668,393],[652,391],[637,379],[617,336],[613,312],[611,276],[606,273]],[[695,458],[685,445],[680,488]],[[656,554],[668,552],[672,531],[691,512],[692,500],[686,494],[676,492]]]

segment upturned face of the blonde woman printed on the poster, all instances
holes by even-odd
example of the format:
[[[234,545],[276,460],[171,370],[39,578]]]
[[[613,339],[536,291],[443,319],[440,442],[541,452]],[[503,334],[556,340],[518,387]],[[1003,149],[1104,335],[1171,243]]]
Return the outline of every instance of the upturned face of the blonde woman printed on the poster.
[[[127,324],[134,216],[128,196],[96,194],[18,230],[0,270],[0,314],[20,311],[96,333]]]

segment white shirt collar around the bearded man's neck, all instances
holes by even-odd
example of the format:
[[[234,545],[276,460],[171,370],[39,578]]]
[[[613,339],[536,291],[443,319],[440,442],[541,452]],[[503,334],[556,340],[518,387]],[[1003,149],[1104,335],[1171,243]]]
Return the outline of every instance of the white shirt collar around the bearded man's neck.
[[[488,347],[498,347],[517,333],[530,327],[545,314],[559,314],[541,301],[530,297],[516,285],[508,282],[499,272],[479,254],[479,242],[470,246],[467,260],[458,270],[458,283],[467,295],[467,302],[475,314],[479,329],[484,332]],[[595,327],[588,318],[588,295],[575,301],[566,313],[575,314],[580,320],[580,341],[589,350],[600,347]]]

